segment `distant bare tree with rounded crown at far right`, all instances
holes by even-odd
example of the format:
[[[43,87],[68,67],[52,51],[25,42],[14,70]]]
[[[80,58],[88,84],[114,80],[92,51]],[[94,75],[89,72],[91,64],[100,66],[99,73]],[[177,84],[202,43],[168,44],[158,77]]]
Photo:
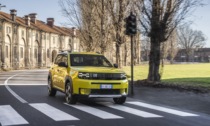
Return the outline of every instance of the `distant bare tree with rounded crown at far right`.
[[[178,30],[179,46],[185,49],[186,61],[189,62],[189,57],[193,49],[203,47],[206,38],[201,31],[193,30],[189,26],[180,27]]]

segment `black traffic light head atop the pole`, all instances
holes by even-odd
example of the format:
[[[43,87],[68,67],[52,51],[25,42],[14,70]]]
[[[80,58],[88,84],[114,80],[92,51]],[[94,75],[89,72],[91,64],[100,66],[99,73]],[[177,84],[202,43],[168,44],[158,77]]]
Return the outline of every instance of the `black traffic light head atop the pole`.
[[[127,18],[125,18],[125,34],[126,35],[135,35],[137,32],[136,16],[131,13]]]

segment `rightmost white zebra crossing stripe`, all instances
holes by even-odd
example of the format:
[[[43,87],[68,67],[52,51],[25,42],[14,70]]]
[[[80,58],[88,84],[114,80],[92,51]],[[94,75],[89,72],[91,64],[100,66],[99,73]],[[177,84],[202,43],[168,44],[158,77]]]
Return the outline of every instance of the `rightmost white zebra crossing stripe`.
[[[165,108],[165,107],[161,107],[161,106],[157,106],[157,105],[151,105],[151,104],[147,104],[147,103],[143,103],[143,102],[126,102],[126,103],[153,109],[153,110],[158,110],[158,111],[162,111],[162,112],[166,112],[166,113],[170,113],[170,114],[174,114],[174,115],[178,115],[178,116],[199,116],[196,114],[182,112],[182,111],[169,109],[169,108]]]

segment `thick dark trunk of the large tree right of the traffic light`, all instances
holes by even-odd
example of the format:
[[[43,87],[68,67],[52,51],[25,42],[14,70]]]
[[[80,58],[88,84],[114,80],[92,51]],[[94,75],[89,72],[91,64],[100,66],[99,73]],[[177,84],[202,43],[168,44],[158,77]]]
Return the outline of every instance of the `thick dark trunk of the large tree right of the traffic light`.
[[[160,42],[158,37],[151,37],[151,50],[149,55],[149,74],[148,81],[159,82],[159,66],[160,66]]]

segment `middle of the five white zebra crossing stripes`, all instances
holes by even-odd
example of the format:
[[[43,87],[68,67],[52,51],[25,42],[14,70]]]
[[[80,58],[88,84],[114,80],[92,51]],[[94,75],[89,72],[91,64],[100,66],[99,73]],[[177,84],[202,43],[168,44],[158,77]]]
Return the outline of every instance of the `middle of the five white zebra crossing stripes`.
[[[100,109],[96,109],[87,105],[83,105],[83,104],[77,104],[77,105],[69,105],[67,103],[64,103],[64,104],[71,106],[73,108],[79,109],[81,111],[84,111],[86,113],[92,114],[102,119],[122,119],[123,118],[121,116],[117,116],[117,115],[114,115],[114,114],[111,114],[111,113],[108,113],[108,112],[105,112]]]

